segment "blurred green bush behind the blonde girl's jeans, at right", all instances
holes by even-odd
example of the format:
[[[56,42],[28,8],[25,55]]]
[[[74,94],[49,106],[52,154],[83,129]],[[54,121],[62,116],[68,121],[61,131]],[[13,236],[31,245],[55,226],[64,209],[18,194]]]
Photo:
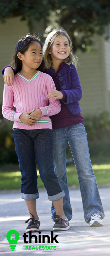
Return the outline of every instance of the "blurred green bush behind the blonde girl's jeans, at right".
[[[89,146],[90,157],[94,163],[108,162],[110,157],[110,117],[108,112],[99,116],[84,118],[85,130]],[[67,143],[67,158],[71,158],[71,151]]]

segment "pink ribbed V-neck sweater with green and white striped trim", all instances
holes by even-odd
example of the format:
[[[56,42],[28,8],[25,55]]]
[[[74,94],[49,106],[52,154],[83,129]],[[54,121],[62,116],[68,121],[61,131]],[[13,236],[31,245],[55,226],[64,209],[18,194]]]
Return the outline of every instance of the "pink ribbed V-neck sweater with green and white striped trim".
[[[13,128],[19,129],[52,129],[49,116],[60,112],[61,104],[59,100],[48,99],[46,95],[56,90],[52,78],[40,71],[31,78],[27,79],[19,72],[14,76],[14,83],[11,86],[4,86],[3,95],[3,116],[14,121]],[[16,112],[13,110],[16,108]],[[42,116],[38,123],[28,126],[19,119],[22,113],[40,108]]]

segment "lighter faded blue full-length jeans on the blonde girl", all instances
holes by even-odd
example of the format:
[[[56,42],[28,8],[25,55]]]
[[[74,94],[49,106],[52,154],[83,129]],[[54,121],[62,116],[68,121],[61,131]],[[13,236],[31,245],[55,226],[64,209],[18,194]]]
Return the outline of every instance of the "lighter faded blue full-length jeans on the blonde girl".
[[[96,178],[92,169],[87,134],[83,124],[55,129],[52,131],[53,153],[54,153],[54,171],[57,174],[59,184],[64,190],[64,213],[70,220],[72,218],[72,208],[69,201],[69,191],[66,178],[66,142],[68,140],[71,153],[76,165],[82,204],[84,210],[84,219],[86,222],[94,213],[99,213],[104,218],[104,211],[98,191]],[[55,209],[52,204],[52,217]]]

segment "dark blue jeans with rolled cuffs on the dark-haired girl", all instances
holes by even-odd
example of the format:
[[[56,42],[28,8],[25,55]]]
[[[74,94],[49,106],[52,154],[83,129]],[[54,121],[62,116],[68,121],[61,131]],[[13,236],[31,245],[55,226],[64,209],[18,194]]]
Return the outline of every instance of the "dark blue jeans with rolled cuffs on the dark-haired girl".
[[[48,194],[48,199],[56,201],[64,197],[64,192],[54,172],[52,130],[14,129],[14,142],[22,175],[21,198],[35,200],[39,197],[36,161],[40,177]]]

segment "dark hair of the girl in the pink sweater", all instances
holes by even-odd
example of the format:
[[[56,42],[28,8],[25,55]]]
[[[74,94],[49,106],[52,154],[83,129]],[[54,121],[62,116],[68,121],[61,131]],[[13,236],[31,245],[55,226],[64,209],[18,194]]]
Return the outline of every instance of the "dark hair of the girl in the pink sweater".
[[[17,54],[19,52],[21,54],[24,54],[28,50],[31,42],[38,42],[43,49],[43,46],[42,46],[42,43],[41,43],[39,37],[37,37],[35,35],[28,34],[25,37],[20,38],[15,46],[15,51],[13,54],[13,67],[15,68],[15,74],[18,73],[22,69],[22,60],[20,60],[18,58]],[[41,65],[39,66],[38,70],[44,71],[44,69],[45,69],[45,65],[44,65],[44,60],[43,60]]]

